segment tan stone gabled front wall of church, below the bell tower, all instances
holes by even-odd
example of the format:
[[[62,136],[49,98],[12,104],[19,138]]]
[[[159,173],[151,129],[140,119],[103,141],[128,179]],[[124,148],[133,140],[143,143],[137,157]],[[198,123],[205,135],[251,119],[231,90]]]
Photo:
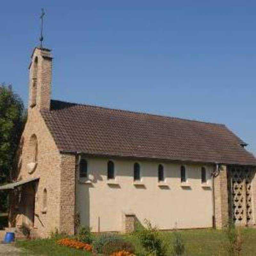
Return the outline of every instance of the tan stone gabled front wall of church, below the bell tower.
[[[29,173],[31,162],[29,140],[35,134],[37,138],[37,165]],[[33,229],[39,236],[45,237],[60,228],[60,153],[44,120],[37,108],[28,111],[28,121],[20,144],[18,180],[40,177],[35,196],[35,222]],[[43,213],[43,192],[47,190],[47,211]],[[20,226],[26,216],[19,209],[16,226]]]

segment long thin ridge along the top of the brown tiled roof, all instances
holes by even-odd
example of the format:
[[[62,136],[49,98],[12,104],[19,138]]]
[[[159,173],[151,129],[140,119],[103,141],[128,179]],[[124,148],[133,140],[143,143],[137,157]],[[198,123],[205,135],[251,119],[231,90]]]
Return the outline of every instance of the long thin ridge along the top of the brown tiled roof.
[[[178,120],[182,120],[182,121],[189,121],[189,122],[203,123],[203,124],[213,124],[213,125],[225,126],[226,127],[225,124],[204,122],[204,121],[198,121],[198,120],[186,119],[186,118],[180,118],[180,117],[174,117],[174,116],[163,116],[163,115],[157,115],[157,114],[150,114],[150,113],[146,113],[146,112],[131,111],[131,110],[120,109],[120,108],[108,108],[108,107],[102,107],[102,106],[96,106],[96,105],[90,105],[90,104],[68,102],[68,101],[63,101],[63,100],[51,100],[51,101],[58,101],[58,102],[62,102],[62,103],[66,103],[66,104],[72,104],[72,105],[77,105],[77,106],[88,106],[88,107],[92,107],[92,108],[116,110],[116,111],[121,111],[121,112],[126,112],[126,113],[132,113],[132,114],[140,114],[140,115],[147,115],[147,116],[157,116],[157,117],[164,117],[164,118],[168,118],[168,119],[178,119]]]

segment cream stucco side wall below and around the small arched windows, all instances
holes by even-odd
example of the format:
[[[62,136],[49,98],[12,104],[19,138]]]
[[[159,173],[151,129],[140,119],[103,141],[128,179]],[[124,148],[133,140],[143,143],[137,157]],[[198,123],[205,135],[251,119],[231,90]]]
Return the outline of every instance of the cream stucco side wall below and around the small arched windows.
[[[90,226],[93,232],[123,231],[124,213],[135,214],[141,223],[150,220],[160,229],[212,227],[212,165],[207,170],[209,188],[201,185],[201,167],[186,164],[187,182],[181,187],[180,166],[135,160],[116,160],[116,185],[107,184],[107,158],[85,158],[88,178],[92,184],[77,182],[76,210],[80,212],[81,225]],[[141,183],[133,184],[133,164],[140,163]],[[158,164],[164,165],[165,183],[158,186]],[[78,178],[77,178],[78,179]]]

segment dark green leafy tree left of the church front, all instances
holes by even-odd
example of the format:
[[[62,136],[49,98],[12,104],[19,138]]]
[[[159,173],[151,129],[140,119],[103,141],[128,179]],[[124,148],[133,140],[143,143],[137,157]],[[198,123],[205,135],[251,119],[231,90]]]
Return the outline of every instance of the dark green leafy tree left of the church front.
[[[0,84],[0,184],[12,180],[16,152],[24,127],[24,105],[12,86]],[[0,212],[6,211],[6,193],[0,191]]]

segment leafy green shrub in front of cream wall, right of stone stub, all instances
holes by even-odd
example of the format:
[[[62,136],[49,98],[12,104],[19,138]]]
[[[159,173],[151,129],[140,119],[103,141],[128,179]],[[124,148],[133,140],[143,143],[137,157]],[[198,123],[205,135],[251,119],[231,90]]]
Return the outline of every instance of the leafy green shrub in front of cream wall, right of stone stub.
[[[142,246],[149,254],[163,256],[166,254],[166,247],[159,235],[158,228],[152,227],[149,220],[145,220],[146,228],[136,225],[135,235],[140,239]]]

